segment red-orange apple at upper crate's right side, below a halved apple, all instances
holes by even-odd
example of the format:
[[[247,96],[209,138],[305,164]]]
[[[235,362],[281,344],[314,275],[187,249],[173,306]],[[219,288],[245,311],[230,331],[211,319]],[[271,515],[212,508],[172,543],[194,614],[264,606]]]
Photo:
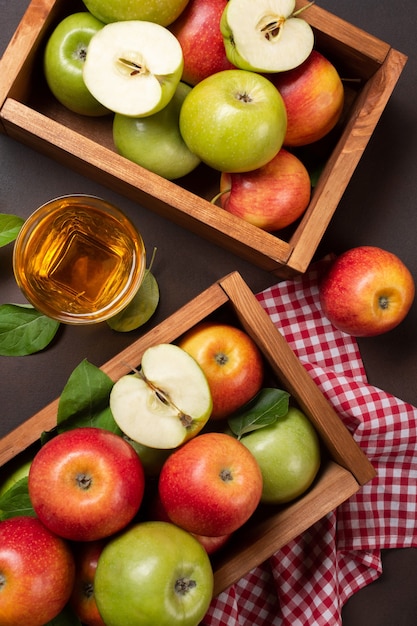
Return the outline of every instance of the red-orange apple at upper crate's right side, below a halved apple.
[[[322,139],[338,122],[343,83],[334,65],[317,50],[293,70],[274,74],[287,110],[284,146],[305,146]]]

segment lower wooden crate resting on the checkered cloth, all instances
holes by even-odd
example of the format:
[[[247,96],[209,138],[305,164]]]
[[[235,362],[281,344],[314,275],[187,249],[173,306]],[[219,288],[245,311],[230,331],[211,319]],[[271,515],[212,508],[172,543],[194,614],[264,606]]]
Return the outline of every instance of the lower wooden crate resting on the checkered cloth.
[[[136,367],[149,346],[175,342],[204,319],[222,319],[243,328],[262,351],[277,386],[286,389],[317,429],[324,446],[322,468],[312,488],[285,506],[268,505],[236,531],[213,559],[214,594],[227,589],[276,550],[334,510],[375,475],[332,406],[308,375],[239,273],[215,283],[105,365],[113,380]],[[126,364],[129,364],[127,366]],[[56,425],[58,399],[0,440],[0,469],[36,445]]]

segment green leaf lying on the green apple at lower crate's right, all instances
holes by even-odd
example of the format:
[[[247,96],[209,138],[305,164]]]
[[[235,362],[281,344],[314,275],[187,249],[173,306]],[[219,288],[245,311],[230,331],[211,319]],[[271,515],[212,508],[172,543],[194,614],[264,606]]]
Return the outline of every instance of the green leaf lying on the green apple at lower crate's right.
[[[265,388],[228,419],[233,434],[241,439],[253,430],[274,424],[288,413],[290,394],[282,389]]]

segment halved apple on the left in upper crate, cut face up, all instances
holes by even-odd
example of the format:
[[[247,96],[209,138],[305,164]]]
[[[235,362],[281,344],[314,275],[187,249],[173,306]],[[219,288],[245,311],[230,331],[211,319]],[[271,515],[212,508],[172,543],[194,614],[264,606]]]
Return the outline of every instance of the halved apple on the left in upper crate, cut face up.
[[[140,117],[163,109],[181,80],[184,59],[164,26],[129,20],[106,24],[87,49],[84,82],[105,107]]]

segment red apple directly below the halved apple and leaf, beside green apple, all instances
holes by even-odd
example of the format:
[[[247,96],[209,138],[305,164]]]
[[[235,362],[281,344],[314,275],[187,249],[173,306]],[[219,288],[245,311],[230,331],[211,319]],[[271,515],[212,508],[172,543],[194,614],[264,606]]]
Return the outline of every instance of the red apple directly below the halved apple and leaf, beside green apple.
[[[165,462],[159,495],[170,520],[190,533],[233,533],[252,515],[262,494],[262,474],[251,452],[224,433],[191,439]]]

